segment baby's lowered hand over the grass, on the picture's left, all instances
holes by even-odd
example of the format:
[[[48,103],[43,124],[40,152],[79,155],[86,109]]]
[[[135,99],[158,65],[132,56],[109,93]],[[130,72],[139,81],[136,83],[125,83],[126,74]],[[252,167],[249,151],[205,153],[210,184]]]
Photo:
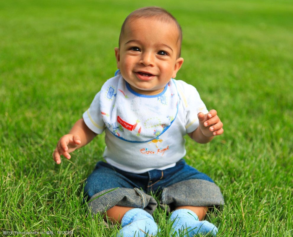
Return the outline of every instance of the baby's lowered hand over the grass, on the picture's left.
[[[67,134],[60,138],[58,144],[53,153],[53,160],[57,163],[61,163],[60,156],[63,155],[67,159],[70,159],[71,156],[69,153],[75,151],[77,146],[81,144],[81,139],[78,135]]]

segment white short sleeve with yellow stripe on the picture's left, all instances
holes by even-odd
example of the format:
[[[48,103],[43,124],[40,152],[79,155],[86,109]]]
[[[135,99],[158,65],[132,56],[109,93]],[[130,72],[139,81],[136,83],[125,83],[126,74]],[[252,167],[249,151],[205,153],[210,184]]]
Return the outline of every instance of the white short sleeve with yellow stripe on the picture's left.
[[[90,108],[83,113],[82,117],[90,130],[97,134],[103,133],[105,123],[101,116],[100,92],[95,95],[93,102],[90,104]]]

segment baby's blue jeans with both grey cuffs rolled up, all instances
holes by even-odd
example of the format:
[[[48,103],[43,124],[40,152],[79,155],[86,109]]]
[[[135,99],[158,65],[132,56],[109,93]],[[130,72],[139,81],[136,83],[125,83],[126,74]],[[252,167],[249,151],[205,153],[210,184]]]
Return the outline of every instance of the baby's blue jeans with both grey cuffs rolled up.
[[[114,188],[118,189],[111,191]],[[161,193],[160,204],[171,209],[224,204],[221,191],[213,180],[187,165],[183,159],[169,169],[142,174],[125,172],[100,161],[86,180],[84,192],[94,213],[104,212],[115,205],[143,208],[153,213],[157,202],[151,193]]]

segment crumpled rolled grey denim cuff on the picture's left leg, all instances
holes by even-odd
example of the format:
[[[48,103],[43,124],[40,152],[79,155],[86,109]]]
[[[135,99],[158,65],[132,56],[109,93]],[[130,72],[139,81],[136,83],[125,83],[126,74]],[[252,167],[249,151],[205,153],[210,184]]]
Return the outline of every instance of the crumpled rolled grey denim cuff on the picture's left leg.
[[[141,208],[153,214],[158,205],[152,196],[144,193],[138,188],[117,188],[113,191],[111,190],[112,189],[106,189],[96,193],[88,200],[88,207],[93,215],[98,212],[104,213],[116,205]]]

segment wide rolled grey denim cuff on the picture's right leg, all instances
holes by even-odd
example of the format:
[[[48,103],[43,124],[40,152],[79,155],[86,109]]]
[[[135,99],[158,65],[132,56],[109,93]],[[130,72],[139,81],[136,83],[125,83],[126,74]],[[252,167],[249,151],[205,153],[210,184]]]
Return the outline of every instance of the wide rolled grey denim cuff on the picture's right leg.
[[[215,183],[203,179],[189,179],[164,188],[161,204],[170,205],[171,209],[180,206],[222,208],[224,198]]]

